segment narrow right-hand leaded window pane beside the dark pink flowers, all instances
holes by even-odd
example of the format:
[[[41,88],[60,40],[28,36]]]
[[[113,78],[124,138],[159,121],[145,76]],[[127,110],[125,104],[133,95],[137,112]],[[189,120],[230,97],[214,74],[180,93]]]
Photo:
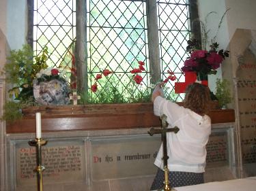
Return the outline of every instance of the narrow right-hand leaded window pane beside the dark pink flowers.
[[[186,41],[190,34],[189,1],[160,0],[158,4],[158,26],[160,44],[160,65],[162,79],[173,71],[178,82],[184,82],[181,67],[188,57]],[[173,101],[182,101],[184,94],[174,93],[175,82],[169,80],[165,95]]]

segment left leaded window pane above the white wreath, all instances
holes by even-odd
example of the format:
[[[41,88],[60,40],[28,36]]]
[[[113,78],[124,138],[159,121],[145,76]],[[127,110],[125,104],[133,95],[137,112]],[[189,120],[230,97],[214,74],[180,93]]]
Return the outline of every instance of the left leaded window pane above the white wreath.
[[[50,67],[62,67],[70,73],[76,37],[75,0],[35,0],[33,13],[33,49],[35,55],[48,48]]]

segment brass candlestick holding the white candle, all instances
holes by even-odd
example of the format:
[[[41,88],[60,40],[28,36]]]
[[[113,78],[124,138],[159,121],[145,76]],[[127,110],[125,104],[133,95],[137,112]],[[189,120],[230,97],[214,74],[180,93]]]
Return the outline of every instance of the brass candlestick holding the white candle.
[[[36,138],[29,141],[29,145],[34,146],[36,150],[36,164],[37,167],[34,171],[38,173],[38,191],[43,191],[43,180],[42,180],[42,171],[44,171],[44,167],[42,166],[42,146],[46,145],[47,141],[44,139]]]

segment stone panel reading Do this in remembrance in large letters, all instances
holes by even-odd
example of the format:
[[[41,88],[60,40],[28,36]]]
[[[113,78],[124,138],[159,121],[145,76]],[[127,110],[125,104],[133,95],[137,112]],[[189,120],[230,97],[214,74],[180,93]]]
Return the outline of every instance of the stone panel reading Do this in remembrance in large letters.
[[[91,139],[92,179],[154,175],[154,160],[161,143],[158,135]]]

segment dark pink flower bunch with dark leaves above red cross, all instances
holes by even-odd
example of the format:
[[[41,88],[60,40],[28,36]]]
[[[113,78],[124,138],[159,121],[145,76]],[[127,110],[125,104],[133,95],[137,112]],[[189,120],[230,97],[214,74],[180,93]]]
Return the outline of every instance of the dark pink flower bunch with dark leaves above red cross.
[[[220,67],[225,57],[229,56],[228,50],[217,51],[218,43],[210,45],[210,50],[200,50],[196,39],[188,40],[186,51],[190,53],[190,57],[185,60],[182,67],[183,72],[195,71],[197,75],[216,74],[216,69]]]

